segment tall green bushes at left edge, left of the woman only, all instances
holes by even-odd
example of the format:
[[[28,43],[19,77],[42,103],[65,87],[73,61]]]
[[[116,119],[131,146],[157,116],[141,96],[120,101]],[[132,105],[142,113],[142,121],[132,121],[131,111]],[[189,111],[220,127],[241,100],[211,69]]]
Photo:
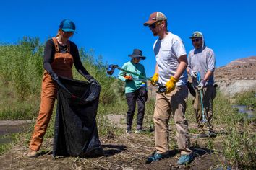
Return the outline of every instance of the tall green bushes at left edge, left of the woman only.
[[[24,37],[17,45],[0,46],[0,119],[30,119],[38,109],[43,73],[43,45]]]

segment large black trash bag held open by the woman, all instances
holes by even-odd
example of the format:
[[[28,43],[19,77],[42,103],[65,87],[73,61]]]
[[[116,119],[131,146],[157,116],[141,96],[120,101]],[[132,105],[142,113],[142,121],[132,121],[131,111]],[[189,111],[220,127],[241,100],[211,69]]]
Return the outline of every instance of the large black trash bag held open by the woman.
[[[54,157],[103,156],[96,125],[101,86],[59,76],[57,87]]]

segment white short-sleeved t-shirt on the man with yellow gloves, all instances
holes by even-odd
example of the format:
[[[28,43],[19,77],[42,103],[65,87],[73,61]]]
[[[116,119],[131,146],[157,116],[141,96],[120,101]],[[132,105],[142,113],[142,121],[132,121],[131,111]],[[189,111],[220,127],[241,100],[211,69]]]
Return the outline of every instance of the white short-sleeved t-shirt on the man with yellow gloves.
[[[153,46],[156,63],[158,64],[158,83],[165,85],[174,76],[179,66],[178,58],[186,55],[183,42],[177,35],[168,32],[162,40],[155,41]],[[187,71],[180,76],[176,86],[187,84]]]

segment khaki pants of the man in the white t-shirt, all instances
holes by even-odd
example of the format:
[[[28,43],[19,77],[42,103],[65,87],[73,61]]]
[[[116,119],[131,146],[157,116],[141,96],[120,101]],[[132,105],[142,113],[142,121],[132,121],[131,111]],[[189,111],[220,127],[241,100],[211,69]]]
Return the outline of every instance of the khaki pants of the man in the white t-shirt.
[[[174,116],[177,143],[182,154],[190,154],[189,128],[185,118],[187,86],[176,87],[170,94],[156,94],[154,123],[155,148],[157,153],[168,152],[168,121]]]

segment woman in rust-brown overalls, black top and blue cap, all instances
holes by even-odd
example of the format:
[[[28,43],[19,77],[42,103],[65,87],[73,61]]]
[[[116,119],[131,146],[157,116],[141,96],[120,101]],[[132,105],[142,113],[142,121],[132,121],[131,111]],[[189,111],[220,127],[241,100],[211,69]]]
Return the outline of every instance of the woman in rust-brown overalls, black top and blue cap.
[[[72,37],[74,32],[74,22],[64,19],[59,26],[56,37],[52,37],[46,42],[43,57],[43,68],[45,71],[43,72],[40,111],[30,141],[30,151],[27,154],[30,158],[38,156],[38,151],[43,142],[43,136],[51,119],[57,94],[55,81],[58,79],[58,76],[72,79],[72,66],[74,63],[77,71],[85,79],[88,79],[90,82],[95,81],[93,76],[90,76],[88,71],[82,66],[77,45],[69,41],[69,37]]]

